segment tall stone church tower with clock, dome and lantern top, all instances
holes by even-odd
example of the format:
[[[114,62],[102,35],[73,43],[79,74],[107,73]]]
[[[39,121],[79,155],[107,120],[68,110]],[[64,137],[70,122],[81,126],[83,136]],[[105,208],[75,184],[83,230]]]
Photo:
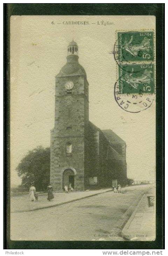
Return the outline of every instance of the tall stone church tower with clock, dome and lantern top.
[[[55,82],[55,125],[51,130],[50,182],[84,189],[85,133],[89,121],[88,82],[78,62],[78,45],[70,42],[67,63]]]

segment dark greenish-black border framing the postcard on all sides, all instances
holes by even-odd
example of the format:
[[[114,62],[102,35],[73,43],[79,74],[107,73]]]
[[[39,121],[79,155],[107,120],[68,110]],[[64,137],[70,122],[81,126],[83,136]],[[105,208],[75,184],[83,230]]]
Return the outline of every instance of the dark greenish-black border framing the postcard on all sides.
[[[4,11],[4,249],[164,249],[164,4],[3,4]],[[11,15],[154,15],[156,16],[156,240],[11,241],[10,240],[10,83]],[[155,136],[155,135],[154,135]],[[9,149],[8,149],[9,148]]]

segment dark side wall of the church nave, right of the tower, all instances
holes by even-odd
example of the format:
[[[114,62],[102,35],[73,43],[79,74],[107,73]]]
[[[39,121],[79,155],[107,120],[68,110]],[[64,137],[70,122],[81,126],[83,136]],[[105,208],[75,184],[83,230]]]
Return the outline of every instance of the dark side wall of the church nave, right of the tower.
[[[85,137],[85,187],[89,185],[89,177],[97,177],[97,187],[111,187],[112,180],[117,179],[121,186],[127,183],[126,151],[123,143],[113,144],[103,132],[89,123]],[[125,144],[125,143],[124,143]],[[118,150],[118,152],[116,151]]]

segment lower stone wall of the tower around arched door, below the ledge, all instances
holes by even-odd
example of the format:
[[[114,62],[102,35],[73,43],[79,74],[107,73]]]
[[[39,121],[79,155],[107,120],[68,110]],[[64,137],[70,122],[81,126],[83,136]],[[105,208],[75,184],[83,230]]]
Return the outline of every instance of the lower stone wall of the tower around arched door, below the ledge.
[[[52,135],[51,135],[52,136]],[[84,137],[52,137],[50,182],[54,190],[62,189],[65,169],[75,169],[75,190],[84,189]],[[66,143],[72,143],[72,154],[66,155]]]

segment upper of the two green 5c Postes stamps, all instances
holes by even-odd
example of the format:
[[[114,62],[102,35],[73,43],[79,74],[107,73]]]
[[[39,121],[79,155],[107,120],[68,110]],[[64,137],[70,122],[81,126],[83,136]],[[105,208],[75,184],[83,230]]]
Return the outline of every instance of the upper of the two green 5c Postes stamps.
[[[118,32],[119,61],[152,61],[153,32]]]

